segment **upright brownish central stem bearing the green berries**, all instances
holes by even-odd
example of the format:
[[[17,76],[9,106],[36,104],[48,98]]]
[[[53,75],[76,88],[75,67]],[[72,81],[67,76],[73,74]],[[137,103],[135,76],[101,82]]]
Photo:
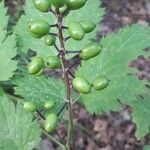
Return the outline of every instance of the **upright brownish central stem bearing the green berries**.
[[[68,121],[68,135],[67,135],[67,149],[70,150],[74,150],[75,149],[75,139],[74,139],[74,129],[73,129],[73,111],[72,111],[72,107],[73,107],[73,103],[71,100],[71,84],[69,81],[69,74],[67,71],[67,62],[65,59],[65,43],[64,43],[64,37],[63,37],[63,26],[62,26],[62,22],[63,22],[63,15],[61,13],[59,13],[58,10],[56,10],[57,13],[57,21],[58,21],[58,38],[60,41],[60,46],[61,46],[61,50],[60,50],[60,60],[61,60],[61,64],[62,64],[62,70],[63,70],[63,78],[67,87],[67,92],[66,92],[66,99],[68,101],[68,112],[69,112],[69,121]]]

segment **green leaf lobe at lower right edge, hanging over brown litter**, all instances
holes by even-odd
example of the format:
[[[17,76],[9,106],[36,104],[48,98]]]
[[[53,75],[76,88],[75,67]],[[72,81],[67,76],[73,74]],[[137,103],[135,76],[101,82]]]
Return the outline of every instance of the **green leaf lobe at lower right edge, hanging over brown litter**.
[[[140,139],[150,133],[150,96],[134,101],[132,107],[133,122],[137,127],[136,137]]]

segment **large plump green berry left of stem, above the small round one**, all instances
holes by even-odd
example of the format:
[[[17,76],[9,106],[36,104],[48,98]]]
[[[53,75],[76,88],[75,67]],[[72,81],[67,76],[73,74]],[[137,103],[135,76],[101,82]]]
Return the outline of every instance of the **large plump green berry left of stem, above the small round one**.
[[[44,20],[32,20],[28,22],[28,30],[32,35],[42,37],[49,33],[50,26]]]

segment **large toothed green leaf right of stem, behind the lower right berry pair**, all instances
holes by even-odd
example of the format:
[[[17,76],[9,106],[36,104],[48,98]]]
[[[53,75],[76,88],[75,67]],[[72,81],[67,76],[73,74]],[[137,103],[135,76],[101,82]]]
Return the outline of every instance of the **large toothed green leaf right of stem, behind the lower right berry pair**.
[[[136,94],[144,92],[145,87],[141,81],[127,76],[133,72],[128,67],[128,62],[144,53],[142,49],[150,46],[150,29],[140,25],[125,27],[118,33],[107,35],[101,44],[101,54],[89,61],[83,61],[77,71],[77,74],[90,82],[98,75],[104,75],[110,80],[106,89],[81,95],[82,103],[91,113],[117,111],[120,108],[118,99],[130,105]]]

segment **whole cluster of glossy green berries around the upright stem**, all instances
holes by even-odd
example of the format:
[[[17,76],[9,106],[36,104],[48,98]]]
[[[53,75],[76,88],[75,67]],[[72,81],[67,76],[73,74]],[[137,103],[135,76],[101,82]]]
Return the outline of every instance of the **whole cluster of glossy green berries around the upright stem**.
[[[50,33],[52,27],[55,27],[61,31],[63,29],[68,30],[68,37],[61,39],[65,42],[65,39],[72,38],[73,40],[79,41],[82,40],[85,34],[92,32],[96,25],[90,20],[82,20],[79,22],[69,22],[68,26],[64,26],[59,22],[59,17],[66,17],[67,14],[71,10],[77,10],[82,8],[86,4],[87,0],[33,0],[34,7],[43,12],[52,12],[56,17],[58,22],[54,25],[50,25],[45,20],[30,20],[27,24],[27,28],[29,33],[35,37],[42,39],[45,45],[54,46],[58,51],[57,56],[48,56],[47,58],[42,58],[40,56],[36,56],[32,58],[31,62],[28,65],[28,71],[30,74],[39,76],[42,74],[44,67],[49,69],[57,69],[61,66],[61,57],[59,57],[63,51],[65,55],[69,51],[59,49],[57,47],[57,39],[60,40],[59,33]],[[55,9],[55,10],[53,10]],[[62,37],[63,38],[63,37]],[[96,42],[90,42],[85,45],[81,51],[79,51],[79,56],[83,61],[87,61],[93,57],[96,57],[100,54],[102,50],[102,46]],[[93,87],[95,90],[102,90],[106,88],[109,84],[109,80],[104,76],[98,76],[93,83],[89,83],[87,79],[81,76],[77,76],[73,79],[73,87],[76,91],[88,94],[91,92],[91,88]],[[44,109],[51,109],[54,107],[53,102],[48,101],[44,104]],[[29,112],[34,112],[36,110],[36,106],[31,102],[24,103],[24,109]],[[55,129],[57,124],[57,115],[49,114],[45,120],[45,130],[51,132]]]

